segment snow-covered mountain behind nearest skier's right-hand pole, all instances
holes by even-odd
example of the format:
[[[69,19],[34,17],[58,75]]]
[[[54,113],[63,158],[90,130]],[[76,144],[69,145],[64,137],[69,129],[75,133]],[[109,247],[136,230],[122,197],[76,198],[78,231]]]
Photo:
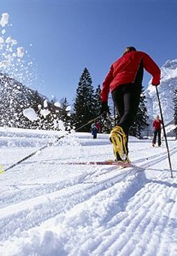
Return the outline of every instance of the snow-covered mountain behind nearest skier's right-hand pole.
[[[161,72],[161,83],[160,86],[158,86],[158,93],[162,106],[164,123],[165,125],[168,125],[173,122],[174,119],[173,99],[174,90],[177,88],[177,59],[167,60],[162,66]],[[152,86],[151,83],[149,83],[149,86],[144,93],[146,95],[146,107],[151,122],[155,116],[160,115],[155,86]]]

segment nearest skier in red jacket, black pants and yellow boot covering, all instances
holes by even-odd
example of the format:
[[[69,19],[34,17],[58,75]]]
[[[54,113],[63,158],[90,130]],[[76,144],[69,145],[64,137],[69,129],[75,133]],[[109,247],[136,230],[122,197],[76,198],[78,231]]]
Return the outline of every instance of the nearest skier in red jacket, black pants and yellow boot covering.
[[[151,83],[158,86],[160,84],[160,68],[155,61],[145,52],[136,51],[132,46],[127,47],[123,56],[111,65],[102,85],[101,113],[109,111],[107,101],[109,90],[111,90],[112,100],[119,117],[118,124],[110,134],[116,161],[130,162],[128,131],[137,114],[144,68],[153,76]]]

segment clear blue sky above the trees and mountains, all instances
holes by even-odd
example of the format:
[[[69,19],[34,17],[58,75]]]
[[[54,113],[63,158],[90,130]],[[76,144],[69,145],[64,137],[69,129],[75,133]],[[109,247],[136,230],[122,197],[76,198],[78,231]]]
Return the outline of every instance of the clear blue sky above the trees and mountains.
[[[0,0],[10,33],[29,53],[37,73],[32,88],[72,104],[87,67],[102,84],[127,45],[162,66],[177,58],[176,0]],[[30,46],[32,44],[32,46]],[[35,77],[35,74],[34,74]],[[150,76],[144,74],[146,88]],[[26,84],[27,85],[27,84]]]

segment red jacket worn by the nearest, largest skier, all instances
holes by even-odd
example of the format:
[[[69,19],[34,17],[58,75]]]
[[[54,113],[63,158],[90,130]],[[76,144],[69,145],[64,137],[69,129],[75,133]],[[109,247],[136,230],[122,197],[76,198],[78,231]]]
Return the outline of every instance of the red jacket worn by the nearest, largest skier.
[[[148,54],[141,51],[128,52],[112,64],[105,77],[101,92],[102,102],[107,102],[109,90],[112,92],[120,84],[134,83],[141,61],[145,70],[153,76],[152,84],[160,83],[160,68]]]

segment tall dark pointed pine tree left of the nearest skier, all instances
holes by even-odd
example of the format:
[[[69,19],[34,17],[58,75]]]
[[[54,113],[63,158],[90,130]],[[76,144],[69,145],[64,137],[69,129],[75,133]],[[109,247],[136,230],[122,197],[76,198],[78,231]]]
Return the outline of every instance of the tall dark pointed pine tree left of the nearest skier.
[[[87,68],[84,68],[79,79],[76,90],[75,102],[73,104],[75,129],[87,124],[95,118],[95,104],[92,79]],[[83,127],[80,131],[90,131],[90,124]]]

